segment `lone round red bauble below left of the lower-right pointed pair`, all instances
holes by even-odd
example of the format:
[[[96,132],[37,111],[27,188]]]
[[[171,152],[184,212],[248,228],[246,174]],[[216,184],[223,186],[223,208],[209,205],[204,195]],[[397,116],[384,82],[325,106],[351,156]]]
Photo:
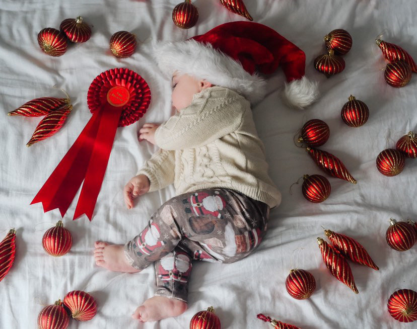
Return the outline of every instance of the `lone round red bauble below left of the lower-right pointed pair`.
[[[314,276],[305,270],[291,270],[285,281],[285,287],[291,297],[307,299],[316,289]]]

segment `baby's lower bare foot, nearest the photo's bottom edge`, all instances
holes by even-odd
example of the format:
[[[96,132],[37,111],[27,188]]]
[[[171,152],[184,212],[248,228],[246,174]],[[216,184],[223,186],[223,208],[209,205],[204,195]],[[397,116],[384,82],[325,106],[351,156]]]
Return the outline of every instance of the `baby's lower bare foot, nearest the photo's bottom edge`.
[[[187,303],[175,298],[162,296],[151,297],[136,308],[132,318],[142,322],[158,321],[167,317],[178,316],[187,309]]]

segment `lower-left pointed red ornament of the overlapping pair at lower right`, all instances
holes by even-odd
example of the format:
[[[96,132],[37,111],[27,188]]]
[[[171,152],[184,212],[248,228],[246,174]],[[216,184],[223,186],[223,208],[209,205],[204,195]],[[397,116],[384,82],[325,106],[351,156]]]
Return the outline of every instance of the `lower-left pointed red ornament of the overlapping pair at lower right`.
[[[340,282],[351,288],[355,293],[359,293],[355,285],[351,267],[346,259],[333,246],[328,244],[322,238],[317,238],[323,262],[329,269],[330,273]]]

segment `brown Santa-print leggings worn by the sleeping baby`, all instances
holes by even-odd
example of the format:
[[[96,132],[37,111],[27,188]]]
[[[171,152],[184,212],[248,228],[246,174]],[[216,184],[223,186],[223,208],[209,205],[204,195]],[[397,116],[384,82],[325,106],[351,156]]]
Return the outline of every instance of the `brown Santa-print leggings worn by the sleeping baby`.
[[[239,192],[204,189],[164,203],[124,245],[138,270],[154,262],[155,295],[187,302],[192,261],[233,263],[248,256],[266,231],[269,207]]]

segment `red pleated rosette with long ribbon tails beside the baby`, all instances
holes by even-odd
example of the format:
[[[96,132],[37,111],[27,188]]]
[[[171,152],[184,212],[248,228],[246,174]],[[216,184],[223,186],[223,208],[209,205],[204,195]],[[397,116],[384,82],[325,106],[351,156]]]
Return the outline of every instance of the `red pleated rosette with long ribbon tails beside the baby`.
[[[44,212],[58,208],[63,217],[84,181],[73,219],[91,220],[117,127],[139,120],[150,102],[149,86],[136,72],[112,68],[97,75],[87,94],[91,119],[31,204],[42,202]]]

